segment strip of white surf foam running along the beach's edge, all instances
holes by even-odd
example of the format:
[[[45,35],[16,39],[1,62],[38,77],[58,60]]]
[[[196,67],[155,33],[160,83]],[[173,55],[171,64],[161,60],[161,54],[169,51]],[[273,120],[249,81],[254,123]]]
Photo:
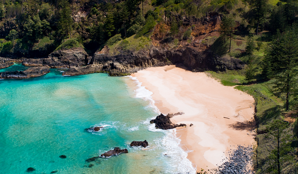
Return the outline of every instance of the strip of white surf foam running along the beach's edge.
[[[145,101],[149,101],[149,108],[152,108],[154,112],[160,114],[158,108],[154,105],[154,100],[151,95],[151,91],[147,90],[144,86],[141,86],[142,83],[137,80],[136,77],[129,76],[137,84],[137,89],[135,90],[135,98],[142,98]],[[142,124],[148,125],[149,131],[152,132],[163,132],[164,137],[156,139],[154,142],[155,147],[150,148],[149,150],[162,149],[163,153],[162,158],[167,159],[167,164],[169,168],[166,170],[166,173],[195,173],[196,169],[192,166],[192,163],[187,159],[187,153],[181,148],[181,140],[176,136],[176,129],[162,130],[156,129],[155,124],[150,124],[150,120],[155,119],[148,118]]]

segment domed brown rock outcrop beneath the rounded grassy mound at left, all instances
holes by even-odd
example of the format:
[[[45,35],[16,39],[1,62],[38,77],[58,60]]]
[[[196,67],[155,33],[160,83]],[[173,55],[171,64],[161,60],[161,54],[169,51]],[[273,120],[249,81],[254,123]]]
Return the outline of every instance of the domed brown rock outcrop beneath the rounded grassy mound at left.
[[[24,59],[25,66],[49,66],[50,68],[63,68],[85,66],[88,64],[88,54],[83,48],[61,49],[52,52],[48,58]]]

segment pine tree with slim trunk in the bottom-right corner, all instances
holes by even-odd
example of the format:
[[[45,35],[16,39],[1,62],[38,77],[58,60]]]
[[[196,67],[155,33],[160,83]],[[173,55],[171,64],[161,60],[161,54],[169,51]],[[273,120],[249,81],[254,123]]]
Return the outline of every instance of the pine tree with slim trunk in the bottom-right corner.
[[[267,170],[267,172],[269,173],[280,174],[280,164],[294,159],[293,156],[291,156],[291,152],[294,152],[294,148],[291,147],[292,138],[291,134],[288,133],[288,127],[288,122],[283,122],[282,120],[278,119],[274,120],[266,126],[268,130],[267,137],[273,138],[275,140],[275,148],[271,151],[271,154],[269,156],[269,159],[271,160],[271,166]]]

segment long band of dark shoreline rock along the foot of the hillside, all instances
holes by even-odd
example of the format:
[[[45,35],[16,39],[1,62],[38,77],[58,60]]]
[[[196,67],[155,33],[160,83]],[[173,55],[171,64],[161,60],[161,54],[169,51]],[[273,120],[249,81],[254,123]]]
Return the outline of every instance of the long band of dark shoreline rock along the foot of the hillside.
[[[13,65],[12,61],[14,60],[1,58],[0,68]],[[244,63],[239,59],[217,58],[206,51],[197,50],[193,45],[172,50],[152,47],[137,53],[125,52],[118,55],[101,50],[95,52],[93,56],[88,56],[83,48],[72,48],[57,50],[47,58],[24,58],[18,61],[22,61],[24,66],[69,68],[63,75],[72,76],[99,72],[108,73],[110,76],[126,76],[149,67],[178,63],[182,63],[193,72],[237,70],[244,67]],[[27,77],[18,76],[18,78]]]

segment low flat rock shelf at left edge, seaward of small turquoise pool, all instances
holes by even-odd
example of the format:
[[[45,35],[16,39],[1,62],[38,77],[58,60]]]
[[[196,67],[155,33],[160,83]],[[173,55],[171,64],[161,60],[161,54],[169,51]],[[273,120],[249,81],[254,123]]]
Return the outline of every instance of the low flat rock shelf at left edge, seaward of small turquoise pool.
[[[49,73],[49,67],[31,67],[25,71],[7,71],[0,72],[0,79],[27,79],[30,77],[39,77]]]

